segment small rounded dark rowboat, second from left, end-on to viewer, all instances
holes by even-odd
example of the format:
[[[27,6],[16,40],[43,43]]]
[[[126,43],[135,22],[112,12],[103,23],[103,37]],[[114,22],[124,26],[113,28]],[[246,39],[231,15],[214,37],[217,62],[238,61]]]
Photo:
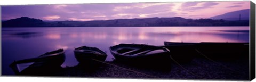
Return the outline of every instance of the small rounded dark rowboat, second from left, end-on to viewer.
[[[74,50],[76,60],[79,64],[90,64],[97,65],[101,62],[104,62],[107,58],[107,54],[99,48],[82,46],[75,48]]]

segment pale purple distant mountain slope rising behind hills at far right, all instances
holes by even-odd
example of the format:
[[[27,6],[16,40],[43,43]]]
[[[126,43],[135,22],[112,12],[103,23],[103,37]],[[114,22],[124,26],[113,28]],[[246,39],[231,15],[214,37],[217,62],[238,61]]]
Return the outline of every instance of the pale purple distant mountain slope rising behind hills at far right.
[[[249,17],[250,9],[228,12],[225,14],[211,17],[210,19],[239,20],[239,14],[241,14],[241,20],[249,20],[250,19],[250,17]]]

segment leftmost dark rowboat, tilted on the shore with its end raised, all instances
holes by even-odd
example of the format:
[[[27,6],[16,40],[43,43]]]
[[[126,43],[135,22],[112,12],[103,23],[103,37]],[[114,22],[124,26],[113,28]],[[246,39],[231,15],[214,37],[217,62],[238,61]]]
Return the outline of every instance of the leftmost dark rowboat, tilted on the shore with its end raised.
[[[65,51],[59,49],[46,52],[37,58],[14,61],[10,64],[10,67],[16,75],[51,75],[61,68],[64,61]]]

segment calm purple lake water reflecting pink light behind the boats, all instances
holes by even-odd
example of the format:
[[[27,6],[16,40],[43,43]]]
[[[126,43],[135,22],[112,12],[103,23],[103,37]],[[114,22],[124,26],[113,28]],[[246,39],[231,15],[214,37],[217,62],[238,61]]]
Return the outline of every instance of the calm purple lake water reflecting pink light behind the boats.
[[[62,67],[75,66],[74,47],[98,47],[113,60],[109,47],[120,43],[164,45],[170,42],[249,42],[250,27],[51,27],[2,28],[2,75],[14,75],[14,60],[63,48]]]

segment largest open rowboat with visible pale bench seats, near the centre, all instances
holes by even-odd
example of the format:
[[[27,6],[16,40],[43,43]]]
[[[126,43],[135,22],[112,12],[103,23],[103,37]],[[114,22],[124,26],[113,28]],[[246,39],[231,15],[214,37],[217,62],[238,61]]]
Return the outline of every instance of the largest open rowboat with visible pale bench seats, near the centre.
[[[152,65],[157,68],[170,68],[170,51],[167,48],[146,44],[119,44],[109,47],[117,61],[130,64]],[[165,67],[158,67],[164,65]]]

